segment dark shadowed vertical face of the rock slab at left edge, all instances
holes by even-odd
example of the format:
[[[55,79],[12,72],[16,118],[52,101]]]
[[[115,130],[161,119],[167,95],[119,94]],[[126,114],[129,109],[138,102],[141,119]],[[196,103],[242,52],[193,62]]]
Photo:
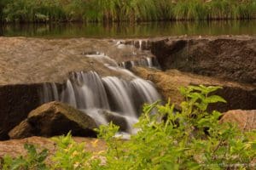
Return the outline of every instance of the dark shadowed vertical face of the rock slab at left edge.
[[[40,84],[0,86],[0,140],[9,139],[8,132],[40,105],[40,88]]]

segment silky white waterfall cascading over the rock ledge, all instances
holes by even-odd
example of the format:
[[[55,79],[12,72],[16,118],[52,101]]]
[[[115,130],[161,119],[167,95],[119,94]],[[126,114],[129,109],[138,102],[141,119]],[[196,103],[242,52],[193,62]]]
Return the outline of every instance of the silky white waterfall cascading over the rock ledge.
[[[55,83],[45,83],[42,103],[59,100],[73,105],[93,117],[98,124],[108,123],[109,114],[119,116],[127,124],[125,131],[132,133],[132,124],[137,122],[142,105],[160,99],[154,85],[119,67],[104,54],[88,54],[86,57],[100,59],[109,69],[131,77],[131,81],[118,77],[100,77],[95,71],[74,72],[61,88],[57,88]],[[148,63],[152,65],[150,60]]]

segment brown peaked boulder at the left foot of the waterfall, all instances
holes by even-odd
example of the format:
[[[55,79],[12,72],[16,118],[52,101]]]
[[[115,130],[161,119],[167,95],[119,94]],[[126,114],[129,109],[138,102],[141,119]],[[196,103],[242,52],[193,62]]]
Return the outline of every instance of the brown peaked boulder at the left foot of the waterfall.
[[[26,120],[9,132],[11,139],[30,136],[50,137],[72,131],[75,136],[95,137],[96,122],[84,112],[61,102],[41,105],[29,113]]]

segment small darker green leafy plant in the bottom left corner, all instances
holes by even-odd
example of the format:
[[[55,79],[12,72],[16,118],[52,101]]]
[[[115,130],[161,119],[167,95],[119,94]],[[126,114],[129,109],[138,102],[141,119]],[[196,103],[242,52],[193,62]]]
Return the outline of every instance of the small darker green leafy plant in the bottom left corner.
[[[32,144],[25,144],[24,148],[27,150],[27,156],[19,156],[18,158],[11,158],[10,156],[3,157],[3,170],[47,170],[44,163],[48,156],[48,150],[37,152]],[[1,167],[1,166],[0,166]]]

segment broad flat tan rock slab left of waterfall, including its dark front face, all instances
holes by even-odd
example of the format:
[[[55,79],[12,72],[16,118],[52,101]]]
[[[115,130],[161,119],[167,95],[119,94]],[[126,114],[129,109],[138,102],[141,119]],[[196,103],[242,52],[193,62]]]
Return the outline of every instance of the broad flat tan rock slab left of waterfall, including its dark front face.
[[[8,139],[9,130],[41,104],[38,92],[45,82],[63,84],[75,71],[125,78],[93,54],[108,54],[122,62],[143,53],[118,48],[118,41],[110,39],[0,37],[0,42],[0,140]]]

